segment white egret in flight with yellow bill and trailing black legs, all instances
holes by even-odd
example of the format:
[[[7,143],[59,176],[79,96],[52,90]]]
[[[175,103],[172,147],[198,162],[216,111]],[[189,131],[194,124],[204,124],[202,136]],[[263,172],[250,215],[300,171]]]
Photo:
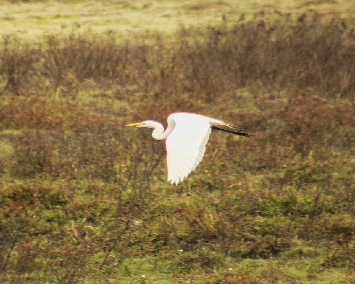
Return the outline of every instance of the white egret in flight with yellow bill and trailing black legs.
[[[229,129],[219,128],[223,125]],[[168,116],[168,127],[157,121],[146,120],[126,126],[153,128],[152,137],[164,140],[166,145],[166,162],[168,181],[175,185],[183,181],[202,160],[211,129],[222,130],[240,136],[250,137],[243,129],[235,130],[233,125],[201,114],[173,113]]]

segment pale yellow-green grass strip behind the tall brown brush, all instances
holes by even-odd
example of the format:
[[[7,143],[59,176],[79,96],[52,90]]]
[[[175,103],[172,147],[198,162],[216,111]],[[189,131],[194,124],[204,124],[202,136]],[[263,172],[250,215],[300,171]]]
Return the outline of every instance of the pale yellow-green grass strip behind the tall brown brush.
[[[331,18],[353,18],[352,0],[121,0],[121,1],[0,1],[0,34],[16,34],[37,40],[45,34],[69,34],[73,29],[95,33],[115,32],[121,39],[134,34],[158,31],[170,38],[181,27],[206,27],[220,24],[222,18],[231,23],[242,16],[251,20],[255,13],[266,15],[316,10]]]

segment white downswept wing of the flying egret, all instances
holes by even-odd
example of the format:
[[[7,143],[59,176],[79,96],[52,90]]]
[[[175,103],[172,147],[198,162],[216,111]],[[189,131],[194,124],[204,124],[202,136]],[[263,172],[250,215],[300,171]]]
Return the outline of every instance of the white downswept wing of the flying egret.
[[[189,113],[172,114],[168,122],[175,123],[174,130],[166,138],[168,181],[177,185],[202,160],[211,125],[206,116]]]

